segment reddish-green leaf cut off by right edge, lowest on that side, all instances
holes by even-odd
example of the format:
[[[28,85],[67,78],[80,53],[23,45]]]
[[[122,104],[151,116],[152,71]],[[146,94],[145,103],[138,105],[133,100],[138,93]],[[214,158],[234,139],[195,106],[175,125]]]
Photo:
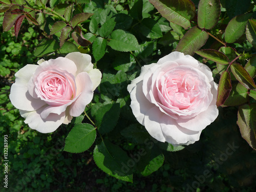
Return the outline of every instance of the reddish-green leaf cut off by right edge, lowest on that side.
[[[239,106],[238,126],[242,137],[256,150],[256,103]]]

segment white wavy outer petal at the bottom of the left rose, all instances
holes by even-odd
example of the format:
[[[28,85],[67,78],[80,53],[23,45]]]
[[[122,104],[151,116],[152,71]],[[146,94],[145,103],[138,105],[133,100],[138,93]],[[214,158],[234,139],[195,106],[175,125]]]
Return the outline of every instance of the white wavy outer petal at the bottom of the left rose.
[[[65,120],[65,112],[60,115],[51,114],[46,119],[42,119],[40,113],[43,109],[44,107],[32,112],[19,110],[19,113],[26,119],[24,122],[27,123],[31,129],[40,133],[54,132]]]

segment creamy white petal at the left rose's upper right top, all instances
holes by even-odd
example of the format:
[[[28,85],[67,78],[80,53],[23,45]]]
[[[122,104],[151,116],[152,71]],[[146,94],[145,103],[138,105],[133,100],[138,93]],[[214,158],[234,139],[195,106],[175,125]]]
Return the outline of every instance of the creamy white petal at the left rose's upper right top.
[[[93,69],[92,58],[88,54],[73,52],[66,55],[65,58],[74,61],[77,67],[76,75],[78,75],[81,72],[89,72]]]

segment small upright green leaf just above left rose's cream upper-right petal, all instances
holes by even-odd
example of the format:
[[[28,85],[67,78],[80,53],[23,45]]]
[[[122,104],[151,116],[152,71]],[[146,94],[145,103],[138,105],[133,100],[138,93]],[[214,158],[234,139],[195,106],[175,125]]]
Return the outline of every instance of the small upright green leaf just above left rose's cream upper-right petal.
[[[95,61],[98,61],[101,59],[106,51],[106,39],[102,37],[97,37],[93,41],[93,56],[95,58]]]

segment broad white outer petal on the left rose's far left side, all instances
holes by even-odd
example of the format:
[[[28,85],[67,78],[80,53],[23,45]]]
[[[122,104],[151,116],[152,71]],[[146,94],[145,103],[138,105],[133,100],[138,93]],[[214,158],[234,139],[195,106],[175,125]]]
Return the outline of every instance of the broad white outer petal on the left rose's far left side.
[[[10,100],[15,108],[34,111],[46,104],[40,99],[33,98],[28,92],[28,82],[37,67],[36,65],[26,65],[15,74],[15,83],[12,84],[10,93]]]

